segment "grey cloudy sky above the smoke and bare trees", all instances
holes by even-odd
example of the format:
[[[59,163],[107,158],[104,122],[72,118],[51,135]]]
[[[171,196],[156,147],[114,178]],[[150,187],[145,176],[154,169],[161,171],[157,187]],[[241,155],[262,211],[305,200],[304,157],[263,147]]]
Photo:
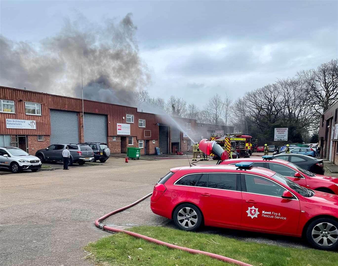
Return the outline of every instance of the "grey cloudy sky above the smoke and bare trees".
[[[338,1],[0,1],[0,33],[33,45],[65,18],[131,12],[151,96],[203,105],[338,57]],[[5,84],[3,84],[5,85]]]

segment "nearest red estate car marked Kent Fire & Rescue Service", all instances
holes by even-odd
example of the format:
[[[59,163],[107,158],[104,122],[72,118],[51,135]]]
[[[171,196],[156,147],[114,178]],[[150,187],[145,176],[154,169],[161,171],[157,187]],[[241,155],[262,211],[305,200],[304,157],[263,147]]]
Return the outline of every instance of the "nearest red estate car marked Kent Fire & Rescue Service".
[[[154,186],[150,208],[187,231],[204,224],[304,237],[318,249],[338,248],[338,196],[251,165],[173,168]]]

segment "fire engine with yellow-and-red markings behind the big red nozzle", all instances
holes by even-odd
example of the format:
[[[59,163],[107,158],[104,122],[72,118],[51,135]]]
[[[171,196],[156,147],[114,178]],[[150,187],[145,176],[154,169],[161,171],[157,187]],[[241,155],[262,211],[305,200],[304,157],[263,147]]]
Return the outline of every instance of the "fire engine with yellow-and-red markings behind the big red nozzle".
[[[238,158],[248,158],[252,153],[252,137],[250,135],[244,135],[244,133],[241,132],[215,133],[211,135],[210,140],[216,141],[229,154],[230,150],[236,151]],[[235,154],[233,153],[233,155]]]

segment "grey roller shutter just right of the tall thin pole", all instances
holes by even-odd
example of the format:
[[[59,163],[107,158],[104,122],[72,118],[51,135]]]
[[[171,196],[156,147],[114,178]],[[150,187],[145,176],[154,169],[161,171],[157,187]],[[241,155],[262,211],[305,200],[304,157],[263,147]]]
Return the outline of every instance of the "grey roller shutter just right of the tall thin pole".
[[[107,116],[84,114],[84,142],[107,143]]]

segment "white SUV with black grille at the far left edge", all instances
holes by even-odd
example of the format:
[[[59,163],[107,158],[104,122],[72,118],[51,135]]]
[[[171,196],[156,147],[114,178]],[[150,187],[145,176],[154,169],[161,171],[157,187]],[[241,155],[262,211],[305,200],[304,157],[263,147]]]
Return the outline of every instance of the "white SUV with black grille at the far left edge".
[[[0,167],[8,168],[12,173],[22,170],[36,172],[41,168],[41,160],[16,147],[0,147]]]

